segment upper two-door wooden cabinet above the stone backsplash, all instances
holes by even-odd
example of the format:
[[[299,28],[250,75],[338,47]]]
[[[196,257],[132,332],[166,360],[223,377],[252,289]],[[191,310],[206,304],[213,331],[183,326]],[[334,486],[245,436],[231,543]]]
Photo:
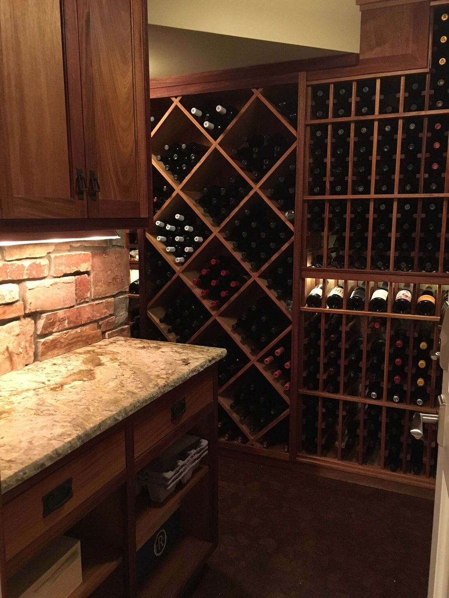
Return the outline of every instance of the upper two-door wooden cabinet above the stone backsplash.
[[[145,0],[0,0],[0,216],[146,218]]]

